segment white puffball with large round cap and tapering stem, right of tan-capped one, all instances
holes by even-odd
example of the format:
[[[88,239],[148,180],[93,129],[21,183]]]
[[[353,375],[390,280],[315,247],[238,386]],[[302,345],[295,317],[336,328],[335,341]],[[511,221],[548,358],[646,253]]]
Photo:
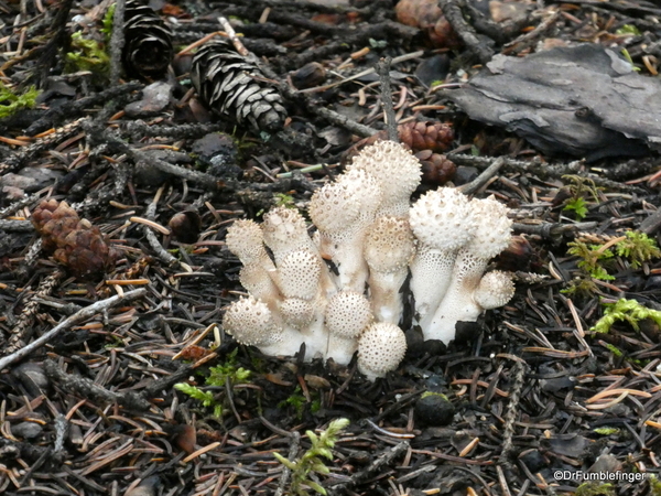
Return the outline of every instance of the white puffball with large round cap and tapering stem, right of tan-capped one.
[[[411,207],[409,223],[418,239],[411,262],[411,292],[423,330],[430,326],[449,287],[457,251],[475,235],[473,206],[459,191],[441,187],[425,193]]]

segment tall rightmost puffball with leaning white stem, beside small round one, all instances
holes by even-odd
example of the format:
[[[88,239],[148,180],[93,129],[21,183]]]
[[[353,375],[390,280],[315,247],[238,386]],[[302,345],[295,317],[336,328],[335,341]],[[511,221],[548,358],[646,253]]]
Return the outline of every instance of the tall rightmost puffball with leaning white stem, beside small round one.
[[[477,229],[470,242],[459,249],[452,273],[452,282],[429,327],[423,327],[425,339],[454,339],[457,322],[475,322],[481,309],[474,300],[489,260],[509,246],[512,222],[507,207],[492,196],[473,200]]]

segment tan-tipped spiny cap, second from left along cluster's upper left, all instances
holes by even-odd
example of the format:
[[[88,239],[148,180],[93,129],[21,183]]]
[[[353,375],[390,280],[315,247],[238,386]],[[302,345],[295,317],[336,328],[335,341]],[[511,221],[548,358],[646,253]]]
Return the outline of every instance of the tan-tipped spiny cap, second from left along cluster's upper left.
[[[296,209],[271,209],[264,215],[262,229],[264,242],[273,251],[275,263],[291,251],[312,248],[305,219]]]

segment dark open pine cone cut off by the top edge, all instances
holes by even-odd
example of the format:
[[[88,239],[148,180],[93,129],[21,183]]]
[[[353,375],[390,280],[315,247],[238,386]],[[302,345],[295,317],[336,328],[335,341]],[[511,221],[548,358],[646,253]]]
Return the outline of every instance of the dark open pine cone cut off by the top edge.
[[[122,60],[131,77],[162,77],[172,61],[172,33],[149,7],[128,0],[124,11],[124,47]]]

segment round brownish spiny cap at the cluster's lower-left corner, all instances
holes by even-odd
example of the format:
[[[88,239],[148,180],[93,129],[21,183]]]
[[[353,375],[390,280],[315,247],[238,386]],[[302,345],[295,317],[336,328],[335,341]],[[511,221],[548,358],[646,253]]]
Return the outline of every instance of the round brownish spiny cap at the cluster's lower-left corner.
[[[249,346],[269,346],[282,341],[280,327],[269,306],[252,296],[229,305],[223,317],[223,328],[235,339]]]

